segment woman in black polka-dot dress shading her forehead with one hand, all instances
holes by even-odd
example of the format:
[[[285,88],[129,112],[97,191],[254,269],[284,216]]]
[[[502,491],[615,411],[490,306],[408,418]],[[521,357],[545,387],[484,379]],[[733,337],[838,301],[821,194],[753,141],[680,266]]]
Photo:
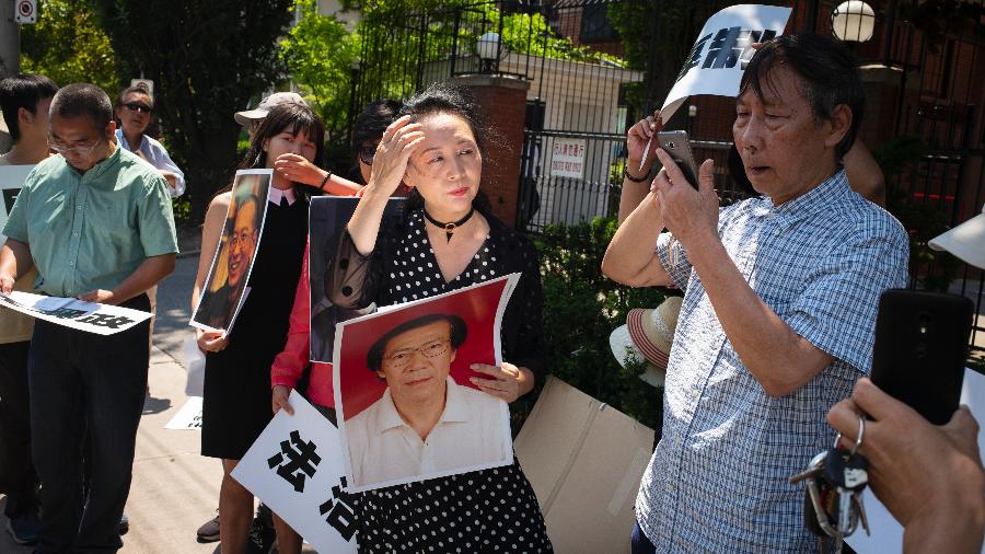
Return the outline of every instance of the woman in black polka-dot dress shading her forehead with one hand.
[[[427,298],[510,273],[522,277],[502,322],[499,367],[483,391],[512,402],[543,374],[543,293],[533,245],[489,211],[478,191],[484,129],[457,88],[410,99],[383,135],[372,175],[333,267],[333,302],[362,308]],[[401,182],[405,213],[383,220]],[[362,552],[552,552],[519,462],[358,495]]]

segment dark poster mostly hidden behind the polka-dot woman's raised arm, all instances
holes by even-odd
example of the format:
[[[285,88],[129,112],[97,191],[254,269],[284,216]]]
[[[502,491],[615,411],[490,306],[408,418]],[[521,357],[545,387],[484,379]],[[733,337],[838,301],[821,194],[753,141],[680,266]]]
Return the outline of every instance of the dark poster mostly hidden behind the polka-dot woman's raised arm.
[[[383,217],[397,217],[404,209],[403,198],[391,198]],[[309,209],[308,273],[311,290],[311,361],[332,363],[335,348],[335,325],[372,313],[375,305],[364,310],[346,310],[328,300],[328,267],[338,250],[339,239],[356,211],[359,198],[320,196],[311,199]]]

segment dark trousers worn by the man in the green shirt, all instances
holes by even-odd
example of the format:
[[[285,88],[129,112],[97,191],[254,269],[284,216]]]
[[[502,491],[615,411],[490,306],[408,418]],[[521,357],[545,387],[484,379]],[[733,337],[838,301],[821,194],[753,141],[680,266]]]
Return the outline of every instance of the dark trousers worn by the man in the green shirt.
[[[123,305],[150,311],[141,295]],[[35,552],[113,553],[147,394],[150,322],[101,336],[37,320],[27,363],[32,457],[42,481]],[[82,495],[86,432],[92,473]]]

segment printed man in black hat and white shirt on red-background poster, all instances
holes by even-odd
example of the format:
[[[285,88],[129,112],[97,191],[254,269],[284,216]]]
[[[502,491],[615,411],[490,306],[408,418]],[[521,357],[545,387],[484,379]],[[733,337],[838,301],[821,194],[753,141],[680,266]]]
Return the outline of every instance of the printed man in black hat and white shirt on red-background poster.
[[[351,485],[374,488],[512,461],[506,403],[451,376],[467,338],[463,318],[430,313],[370,346],[366,368],[386,388],[345,423]]]

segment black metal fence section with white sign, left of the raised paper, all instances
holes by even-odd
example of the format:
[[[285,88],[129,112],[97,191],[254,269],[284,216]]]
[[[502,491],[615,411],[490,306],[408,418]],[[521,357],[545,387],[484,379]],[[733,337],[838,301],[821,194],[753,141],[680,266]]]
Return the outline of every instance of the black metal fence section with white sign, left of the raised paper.
[[[456,76],[526,80],[517,227],[537,232],[606,215],[622,182],[627,122],[641,113],[624,91],[644,72],[565,37],[616,39],[604,10],[621,1],[485,1],[398,18],[367,12],[354,105]]]

